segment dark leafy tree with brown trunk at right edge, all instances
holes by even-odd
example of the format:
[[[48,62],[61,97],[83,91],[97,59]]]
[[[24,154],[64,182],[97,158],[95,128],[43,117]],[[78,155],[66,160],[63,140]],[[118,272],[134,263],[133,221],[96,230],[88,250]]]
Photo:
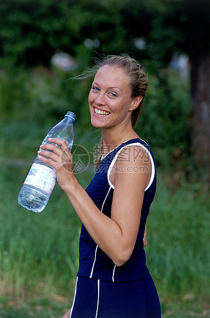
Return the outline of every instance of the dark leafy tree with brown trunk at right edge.
[[[139,10],[140,3],[138,2]],[[132,0],[130,4],[133,8]],[[192,153],[198,167],[209,166],[210,1],[150,0],[144,2],[142,8],[143,25],[141,17],[132,9],[124,14],[124,18],[126,25],[129,24],[129,35],[133,34],[132,39],[144,37],[147,58],[159,62],[159,65],[161,62],[164,66],[174,52],[189,56]],[[210,181],[210,169],[208,173]]]

